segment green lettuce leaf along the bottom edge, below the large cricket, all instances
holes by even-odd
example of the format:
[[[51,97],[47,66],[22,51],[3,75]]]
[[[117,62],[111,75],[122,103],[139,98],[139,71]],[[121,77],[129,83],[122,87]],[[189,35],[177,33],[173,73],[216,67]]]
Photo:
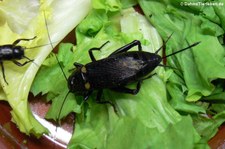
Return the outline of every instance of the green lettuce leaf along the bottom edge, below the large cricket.
[[[102,109],[101,109],[102,110]],[[102,114],[97,114],[94,121],[102,122]],[[97,119],[100,118],[100,119]],[[107,121],[112,120],[105,119]],[[105,123],[106,124],[106,123]],[[156,128],[148,128],[138,119],[130,117],[121,117],[114,123],[108,125],[108,129],[102,125],[90,126],[88,124],[77,124],[77,133],[71,139],[68,148],[107,148],[107,149],[137,149],[137,148],[184,148],[190,149],[195,147],[207,148],[206,143],[197,144],[200,136],[196,133],[192,125],[192,119],[182,117],[176,124],[170,124],[165,131]],[[185,129],[184,129],[185,128]],[[98,130],[99,129],[99,130]],[[107,131],[108,135],[105,135]],[[179,137],[178,137],[179,136]],[[105,142],[102,144],[99,140],[104,137]],[[174,141],[176,138],[176,141]]]

